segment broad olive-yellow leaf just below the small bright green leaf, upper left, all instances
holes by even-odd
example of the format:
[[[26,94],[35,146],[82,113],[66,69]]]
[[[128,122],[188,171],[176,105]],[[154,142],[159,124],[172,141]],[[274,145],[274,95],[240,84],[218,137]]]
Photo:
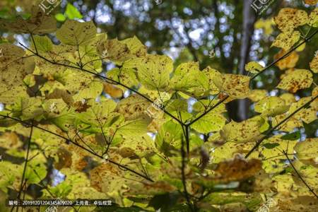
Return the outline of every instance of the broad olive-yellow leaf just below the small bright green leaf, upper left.
[[[93,22],[80,23],[76,20],[66,20],[59,30],[57,38],[66,45],[88,45],[96,35]]]

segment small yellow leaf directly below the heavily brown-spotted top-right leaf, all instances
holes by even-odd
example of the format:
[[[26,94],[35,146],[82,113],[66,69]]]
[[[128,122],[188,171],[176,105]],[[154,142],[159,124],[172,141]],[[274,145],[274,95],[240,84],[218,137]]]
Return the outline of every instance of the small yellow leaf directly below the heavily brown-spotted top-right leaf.
[[[285,51],[288,51],[293,45],[295,45],[296,42],[300,39],[300,32],[293,31],[290,32],[284,32],[279,34],[276,37],[276,40],[273,42],[271,47],[280,47],[283,48]]]

